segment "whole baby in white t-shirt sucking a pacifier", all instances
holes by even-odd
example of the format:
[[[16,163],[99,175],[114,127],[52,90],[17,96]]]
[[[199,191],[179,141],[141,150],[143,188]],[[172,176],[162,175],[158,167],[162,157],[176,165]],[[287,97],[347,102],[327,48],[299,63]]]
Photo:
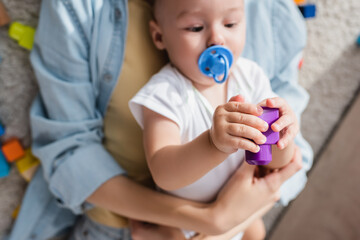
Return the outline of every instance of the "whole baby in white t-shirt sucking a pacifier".
[[[157,0],[154,16],[152,39],[166,50],[170,63],[129,105],[143,129],[147,163],[157,186],[186,199],[214,200],[243,163],[244,150],[257,152],[258,144],[266,142],[262,132],[268,127],[280,132],[280,140],[267,167],[290,162],[299,128],[295,114],[272,92],[263,71],[240,57],[246,26],[243,0]],[[203,75],[197,64],[200,54],[214,45],[227,47],[234,56],[222,84]],[[279,108],[280,118],[268,126],[258,118],[260,106]],[[235,228],[224,239],[240,239],[242,230]],[[264,237],[258,219],[243,239]]]

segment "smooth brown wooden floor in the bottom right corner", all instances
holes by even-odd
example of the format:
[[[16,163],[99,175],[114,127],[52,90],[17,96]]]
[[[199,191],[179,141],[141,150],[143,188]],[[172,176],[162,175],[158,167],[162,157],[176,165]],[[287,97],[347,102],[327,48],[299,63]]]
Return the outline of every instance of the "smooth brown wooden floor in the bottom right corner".
[[[270,236],[312,239],[360,239],[360,96]]]

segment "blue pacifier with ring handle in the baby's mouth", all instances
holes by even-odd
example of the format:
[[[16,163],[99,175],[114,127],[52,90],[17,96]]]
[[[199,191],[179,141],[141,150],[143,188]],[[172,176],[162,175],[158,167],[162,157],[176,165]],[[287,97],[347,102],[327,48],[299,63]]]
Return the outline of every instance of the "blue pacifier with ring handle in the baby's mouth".
[[[229,75],[229,68],[233,62],[231,51],[223,46],[215,45],[203,51],[198,60],[200,71],[215,82],[223,83]],[[223,79],[218,77],[223,75]]]

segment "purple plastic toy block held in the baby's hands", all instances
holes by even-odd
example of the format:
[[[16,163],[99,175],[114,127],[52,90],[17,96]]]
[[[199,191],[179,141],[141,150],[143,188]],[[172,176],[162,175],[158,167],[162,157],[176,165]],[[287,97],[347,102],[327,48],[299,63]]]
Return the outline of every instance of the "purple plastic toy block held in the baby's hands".
[[[272,160],[271,145],[276,144],[280,138],[279,132],[271,130],[271,125],[279,118],[279,109],[268,107],[263,107],[263,109],[264,112],[260,118],[269,124],[269,129],[263,133],[266,137],[266,142],[259,145],[259,152],[245,151],[245,160],[251,165],[266,165],[270,163]]]

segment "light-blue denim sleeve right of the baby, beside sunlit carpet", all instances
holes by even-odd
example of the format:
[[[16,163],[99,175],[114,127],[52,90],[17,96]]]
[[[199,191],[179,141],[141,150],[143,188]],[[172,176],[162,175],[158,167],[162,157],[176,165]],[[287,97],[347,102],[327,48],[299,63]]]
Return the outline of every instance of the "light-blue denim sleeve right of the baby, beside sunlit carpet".
[[[287,100],[299,120],[306,108],[309,95],[298,83],[298,64],[306,44],[305,22],[292,1],[274,0],[272,8],[274,77],[271,85],[280,97]],[[304,188],[306,172],[311,168],[313,152],[299,133],[295,143],[301,148],[303,168],[281,188],[281,203],[287,205]]]

